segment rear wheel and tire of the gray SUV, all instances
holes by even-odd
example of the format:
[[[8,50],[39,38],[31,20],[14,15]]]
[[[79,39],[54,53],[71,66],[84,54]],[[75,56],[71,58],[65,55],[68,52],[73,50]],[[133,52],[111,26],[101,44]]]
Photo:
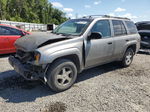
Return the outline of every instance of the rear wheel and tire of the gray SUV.
[[[133,57],[134,57],[134,51],[132,48],[128,48],[124,54],[124,58],[121,61],[121,65],[123,67],[128,67],[131,65],[132,61],[133,61]]]

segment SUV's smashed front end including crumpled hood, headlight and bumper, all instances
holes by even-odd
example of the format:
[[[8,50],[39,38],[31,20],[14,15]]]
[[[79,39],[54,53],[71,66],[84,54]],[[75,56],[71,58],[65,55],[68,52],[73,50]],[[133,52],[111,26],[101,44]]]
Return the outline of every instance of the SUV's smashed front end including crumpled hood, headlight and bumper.
[[[59,41],[69,39],[55,34],[33,34],[19,38],[15,42],[17,52],[9,57],[9,63],[15,71],[27,80],[44,79],[47,65],[40,65],[41,54],[36,50]],[[46,81],[45,81],[46,82]]]

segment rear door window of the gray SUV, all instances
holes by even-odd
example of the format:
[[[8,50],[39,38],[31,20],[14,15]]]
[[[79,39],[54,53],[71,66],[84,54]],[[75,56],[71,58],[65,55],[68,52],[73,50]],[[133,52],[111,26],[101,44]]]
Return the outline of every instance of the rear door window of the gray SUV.
[[[113,23],[115,36],[127,34],[127,31],[126,31],[125,26],[122,21],[112,20],[112,23]]]

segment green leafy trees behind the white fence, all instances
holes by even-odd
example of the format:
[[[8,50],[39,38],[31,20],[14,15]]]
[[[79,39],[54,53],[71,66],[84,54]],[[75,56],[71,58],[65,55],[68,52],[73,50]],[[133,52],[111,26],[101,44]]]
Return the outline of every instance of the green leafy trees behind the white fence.
[[[65,13],[53,8],[48,0],[0,0],[0,19],[45,24],[67,20]]]

